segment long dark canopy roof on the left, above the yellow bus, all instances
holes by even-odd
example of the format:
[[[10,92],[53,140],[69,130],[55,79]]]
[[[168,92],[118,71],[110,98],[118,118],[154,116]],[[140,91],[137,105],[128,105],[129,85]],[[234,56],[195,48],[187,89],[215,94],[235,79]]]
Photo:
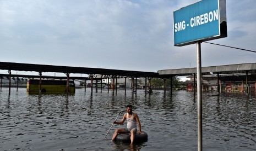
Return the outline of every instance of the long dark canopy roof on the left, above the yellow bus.
[[[36,65],[29,63],[0,62],[0,69],[14,71],[35,71],[35,72],[59,72],[59,73],[83,73],[83,74],[103,74],[103,75],[120,75],[127,77],[158,77],[157,72],[125,71],[117,69],[104,68],[85,68],[70,66],[52,66]]]

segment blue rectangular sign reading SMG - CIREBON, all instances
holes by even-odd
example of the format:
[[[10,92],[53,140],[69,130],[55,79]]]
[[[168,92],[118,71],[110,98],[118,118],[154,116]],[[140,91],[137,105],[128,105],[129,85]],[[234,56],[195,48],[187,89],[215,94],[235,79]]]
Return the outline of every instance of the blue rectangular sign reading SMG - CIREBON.
[[[226,0],[202,0],[173,11],[174,45],[227,37]]]

